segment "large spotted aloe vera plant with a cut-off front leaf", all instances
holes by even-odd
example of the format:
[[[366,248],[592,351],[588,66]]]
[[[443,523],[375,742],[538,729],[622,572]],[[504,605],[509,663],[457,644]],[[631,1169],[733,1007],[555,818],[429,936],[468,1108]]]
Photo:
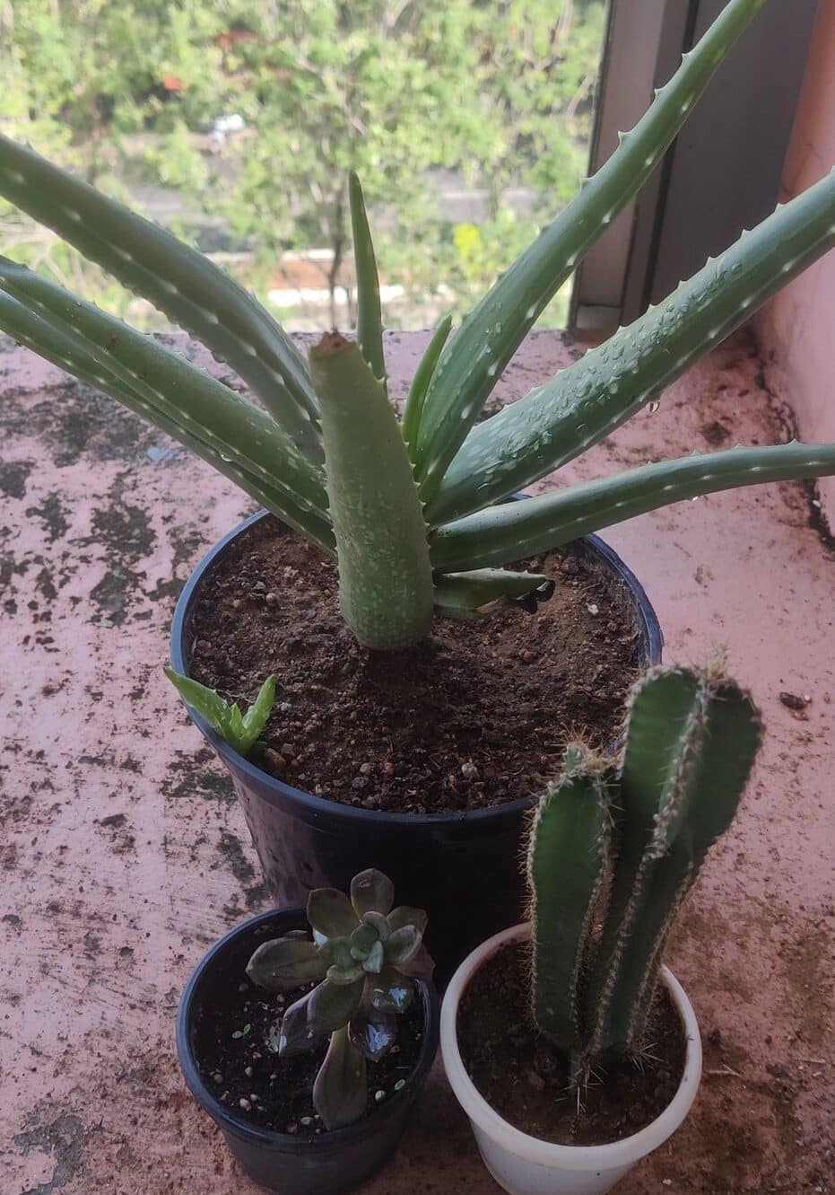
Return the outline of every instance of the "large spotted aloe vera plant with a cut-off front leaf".
[[[744,233],[658,307],[477,425],[522,339],[662,159],[765,0],[729,0],[634,129],[452,335],[444,319],[398,417],[376,263],[350,178],[357,339],[306,362],[204,257],[31,149],[0,137],[0,194],[49,225],[248,385],[250,402],[124,323],[0,258],[0,327],[151,419],[334,558],[368,648],[424,637],[434,609],[535,606],[506,568],[645,510],[739,485],[835,473],[835,445],[738,447],[496,505],[602,440],[835,244],[835,172]]]

